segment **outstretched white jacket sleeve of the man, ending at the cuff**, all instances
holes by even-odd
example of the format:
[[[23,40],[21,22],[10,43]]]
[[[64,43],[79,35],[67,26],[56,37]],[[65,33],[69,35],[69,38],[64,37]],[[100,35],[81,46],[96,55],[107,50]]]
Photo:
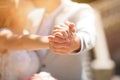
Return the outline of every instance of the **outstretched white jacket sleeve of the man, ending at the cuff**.
[[[88,51],[95,46],[96,43],[96,27],[99,26],[98,13],[86,5],[87,7],[77,13],[75,26],[77,36],[81,41],[81,49],[77,53]]]

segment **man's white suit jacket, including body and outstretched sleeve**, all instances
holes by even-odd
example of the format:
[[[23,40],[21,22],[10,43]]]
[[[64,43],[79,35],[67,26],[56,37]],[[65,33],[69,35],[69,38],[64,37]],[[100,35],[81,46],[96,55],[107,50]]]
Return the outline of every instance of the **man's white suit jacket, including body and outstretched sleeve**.
[[[75,23],[77,36],[81,39],[81,50],[77,55],[57,55],[47,50],[41,60],[41,71],[50,72],[58,80],[82,80],[82,67],[86,53],[94,47],[96,41],[95,27],[99,26],[98,17],[94,10],[87,4],[73,3],[67,0],[62,3],[58,14],[54,17],[53,25],[65,21]],[[47,22],[47,21],[46,21]],[[53,27],[53,25],[51,27]],[[51,28],[52,29],[52,28]],[[40,51],[38,51],[41,53]],[[86,72],[84,72],[84,77]],[[82,79],[81,79],[82,78]]]

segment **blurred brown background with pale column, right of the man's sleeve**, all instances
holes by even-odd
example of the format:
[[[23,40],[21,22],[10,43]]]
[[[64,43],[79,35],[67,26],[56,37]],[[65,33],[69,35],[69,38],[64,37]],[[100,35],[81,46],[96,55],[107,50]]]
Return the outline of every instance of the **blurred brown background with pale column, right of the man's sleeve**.
[[[98,28],[98,32],[102,32],[98,37],[102,40],[98,40],[97,49],[92,55],[96,60],[91,62],[94,79],[120,80],[120,0],[73,1],[90,4],[101,15],[103,28]]]

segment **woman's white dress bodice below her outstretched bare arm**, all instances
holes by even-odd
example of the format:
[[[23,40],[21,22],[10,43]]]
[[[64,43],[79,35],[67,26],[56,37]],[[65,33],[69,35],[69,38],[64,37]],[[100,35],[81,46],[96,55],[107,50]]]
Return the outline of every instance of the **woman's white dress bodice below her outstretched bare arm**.
[[[32,51],[0,54],[0,80],[23,80],[39,71],[39,59]]]

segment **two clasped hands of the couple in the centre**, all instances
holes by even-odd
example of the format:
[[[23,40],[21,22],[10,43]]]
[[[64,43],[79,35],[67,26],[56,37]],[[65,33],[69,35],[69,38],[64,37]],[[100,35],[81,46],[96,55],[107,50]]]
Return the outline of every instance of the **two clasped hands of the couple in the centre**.
[[[54,26],[48,38],[50,50],[56,54],[69,54],[77,49],[75,25],[71,22]]]

